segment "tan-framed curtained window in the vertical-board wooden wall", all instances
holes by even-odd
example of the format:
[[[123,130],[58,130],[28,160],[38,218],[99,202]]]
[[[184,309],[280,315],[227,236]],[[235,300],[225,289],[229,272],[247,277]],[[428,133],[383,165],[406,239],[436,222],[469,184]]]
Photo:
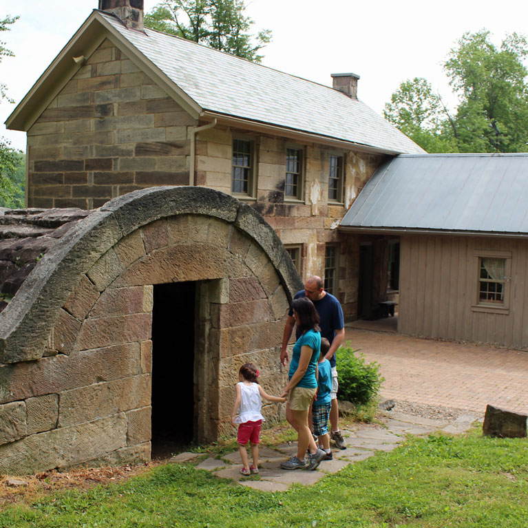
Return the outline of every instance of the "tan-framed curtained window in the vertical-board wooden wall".
[[[505,313],[509,308],[511,252],[474,252],[477,280],[474,311]]]

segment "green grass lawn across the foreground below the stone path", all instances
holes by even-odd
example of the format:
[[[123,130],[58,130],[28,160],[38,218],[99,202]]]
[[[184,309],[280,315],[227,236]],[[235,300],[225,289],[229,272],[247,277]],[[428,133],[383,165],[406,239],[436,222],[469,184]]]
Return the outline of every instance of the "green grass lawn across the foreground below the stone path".
[[[165,465],[124,484],[10,506],[1,528],[528,526],[526,439],[411,437],[314,486],[264,493],[193,465]]]

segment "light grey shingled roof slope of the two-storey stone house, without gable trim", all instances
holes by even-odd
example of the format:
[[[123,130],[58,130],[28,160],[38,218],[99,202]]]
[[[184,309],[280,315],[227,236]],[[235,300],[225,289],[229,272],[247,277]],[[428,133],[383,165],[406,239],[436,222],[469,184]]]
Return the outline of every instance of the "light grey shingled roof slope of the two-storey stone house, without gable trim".
[[[204,110],[387,153],[423,152],[366,104],[333,88],[149,28],[129,30],[105,12],[96,15]]]

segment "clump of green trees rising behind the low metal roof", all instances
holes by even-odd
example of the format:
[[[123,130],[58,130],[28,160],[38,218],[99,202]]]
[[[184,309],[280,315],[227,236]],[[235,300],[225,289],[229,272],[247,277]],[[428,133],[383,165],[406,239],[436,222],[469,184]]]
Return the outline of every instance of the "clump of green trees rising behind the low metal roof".
[[[500,47],[481,30],[465,33],[444,70],[458,106],[450,113],[423,78],[401,83],[385,115],[429,152],[518,152],[528,144],[528,43],[516,33]]]

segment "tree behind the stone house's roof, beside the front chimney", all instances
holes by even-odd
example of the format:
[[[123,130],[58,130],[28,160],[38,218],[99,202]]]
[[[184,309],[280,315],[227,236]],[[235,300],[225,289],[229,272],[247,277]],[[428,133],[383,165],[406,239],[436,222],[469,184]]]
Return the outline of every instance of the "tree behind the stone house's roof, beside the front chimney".
[[[145,15],[145,25],[260,63],[271,31],[251,35],[245,9],[243,0],[165,0]]]

